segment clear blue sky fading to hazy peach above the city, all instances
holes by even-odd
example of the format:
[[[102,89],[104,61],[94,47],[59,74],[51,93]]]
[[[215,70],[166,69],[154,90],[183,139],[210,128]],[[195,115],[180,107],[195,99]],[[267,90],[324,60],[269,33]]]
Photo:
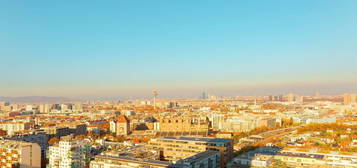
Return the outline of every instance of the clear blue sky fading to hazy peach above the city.
[[[357,92],[356,0],[0,1],[0,96]]]

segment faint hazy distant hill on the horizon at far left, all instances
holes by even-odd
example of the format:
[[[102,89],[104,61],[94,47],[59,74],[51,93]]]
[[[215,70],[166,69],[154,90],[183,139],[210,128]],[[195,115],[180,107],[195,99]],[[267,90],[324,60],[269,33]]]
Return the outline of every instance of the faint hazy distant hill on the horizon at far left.
[[[71,101],[65,97],[47,97],[47,96],[25,96],[25,97],[1,97],[0,101],[14,103],[53,103]]]

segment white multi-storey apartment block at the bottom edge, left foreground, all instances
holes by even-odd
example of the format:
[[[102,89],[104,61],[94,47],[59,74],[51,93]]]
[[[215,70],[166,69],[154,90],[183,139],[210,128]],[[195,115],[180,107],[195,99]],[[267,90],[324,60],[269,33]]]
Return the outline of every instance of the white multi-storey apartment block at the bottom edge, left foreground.
[[[62,137],[58,144],[49,147],[50,168],[81,168],[89,165],[90,143],[76,140],[73,135]]]

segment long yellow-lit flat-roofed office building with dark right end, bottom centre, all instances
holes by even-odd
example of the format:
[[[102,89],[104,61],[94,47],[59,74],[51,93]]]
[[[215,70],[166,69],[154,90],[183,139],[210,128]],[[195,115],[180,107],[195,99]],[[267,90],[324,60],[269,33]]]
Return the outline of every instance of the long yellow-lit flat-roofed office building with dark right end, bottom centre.
[[[233,142],[230,139],[196,138],[196,137],[162,137],[151,139],[149,148],[160,152],[165,160],[177,161],[196,155],[206,150],[220,152],[220,165],[233,157]]]

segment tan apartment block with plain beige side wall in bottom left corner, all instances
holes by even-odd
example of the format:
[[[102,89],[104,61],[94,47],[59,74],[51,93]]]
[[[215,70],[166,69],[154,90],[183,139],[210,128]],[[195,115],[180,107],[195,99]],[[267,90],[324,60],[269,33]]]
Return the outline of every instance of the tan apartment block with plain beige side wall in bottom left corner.
[[[41,148],[36,143],[0,140],[1,168],[40,168]]]

